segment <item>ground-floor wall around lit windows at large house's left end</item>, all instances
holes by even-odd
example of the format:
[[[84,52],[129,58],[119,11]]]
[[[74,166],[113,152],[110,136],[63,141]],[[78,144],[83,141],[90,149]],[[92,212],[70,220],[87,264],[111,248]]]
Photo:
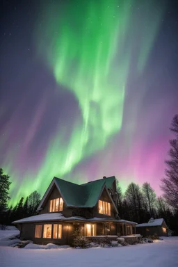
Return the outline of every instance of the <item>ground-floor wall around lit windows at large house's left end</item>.
[[[74,225],[72,223],[61,223],[62,225],[62,238],[35,238],[35,225],[45,224],[58,224],[59,222],[47,222],[47,223],[24,223],[20,233],[21,240],[31,240],[36,244],[46,245],[48,243],[54,243],[56,245],[71,245],[73,240]],[[53,232],[51,233],[52,236]]]

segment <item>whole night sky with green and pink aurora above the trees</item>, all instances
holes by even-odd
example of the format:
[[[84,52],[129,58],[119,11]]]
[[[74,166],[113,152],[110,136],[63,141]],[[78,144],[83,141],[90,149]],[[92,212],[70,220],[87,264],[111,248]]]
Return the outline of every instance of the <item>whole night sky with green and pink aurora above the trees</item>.
[[[0,166],[11,203],[56,176],[158,195],[178,113],[178,1],[3,0]]]

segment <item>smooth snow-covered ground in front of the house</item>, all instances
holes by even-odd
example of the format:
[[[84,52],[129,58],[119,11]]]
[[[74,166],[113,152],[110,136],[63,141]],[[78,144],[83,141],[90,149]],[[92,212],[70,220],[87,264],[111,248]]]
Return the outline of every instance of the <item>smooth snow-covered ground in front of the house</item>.
[[[3,267],[177,267],[178,236],[119,248],[23,249],[0,247]]]

